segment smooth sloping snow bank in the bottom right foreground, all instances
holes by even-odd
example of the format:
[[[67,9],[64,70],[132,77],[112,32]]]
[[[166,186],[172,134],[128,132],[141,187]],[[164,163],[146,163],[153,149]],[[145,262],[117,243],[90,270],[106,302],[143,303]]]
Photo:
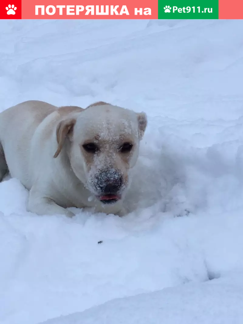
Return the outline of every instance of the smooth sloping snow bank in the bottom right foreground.
[[[241,324],[243,282],[235,278],[187,284],[115,299],[43,324]]]

